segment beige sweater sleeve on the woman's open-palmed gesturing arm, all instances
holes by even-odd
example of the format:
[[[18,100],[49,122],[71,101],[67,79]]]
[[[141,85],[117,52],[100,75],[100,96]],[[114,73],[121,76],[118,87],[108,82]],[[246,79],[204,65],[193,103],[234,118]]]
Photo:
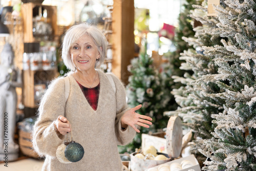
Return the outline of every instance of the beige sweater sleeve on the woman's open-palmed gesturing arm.
[[[112,74],[111,74],[112,75]],[[136,135],[136,131],[132,126],[128,126],[125,131],[121,129],[121,117],[130,110],[126,103],[126,94],[123,83],[114,75],[112,75],[116,85],[116,121],[115,131],[118,145],[126,145],[130,143]]]

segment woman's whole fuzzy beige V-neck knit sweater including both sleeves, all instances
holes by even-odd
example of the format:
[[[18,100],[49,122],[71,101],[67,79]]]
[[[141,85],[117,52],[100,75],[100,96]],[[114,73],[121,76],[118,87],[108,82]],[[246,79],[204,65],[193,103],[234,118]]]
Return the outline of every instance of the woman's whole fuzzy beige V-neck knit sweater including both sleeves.
[[[73,76],[69,76],[70,95],[67,103],[63,77],[50,84],[41,100],[38,120],[33,130],[34,149],[38,154],[46,156],[42,170],[121,170],[117,145],[131,142],[136,132],[131,126],[125,131],[121,130],[120,118],[129,110],[122,82],[112,75],[116,85],[115,95],[105,73],[98,73],[100,92],[97,111],[91,108]],[[66,139],[54,130],[53,121],[59,115],[67,117],[72,126],[73,140],[84,148],[84,156],[78,162],[64,164],[56,158],[57,147]]]

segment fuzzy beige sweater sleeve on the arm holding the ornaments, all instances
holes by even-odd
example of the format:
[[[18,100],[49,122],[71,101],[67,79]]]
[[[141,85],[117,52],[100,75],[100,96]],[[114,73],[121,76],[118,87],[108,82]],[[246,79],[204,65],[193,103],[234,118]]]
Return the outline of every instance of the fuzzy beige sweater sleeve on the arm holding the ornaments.
[[[65,116],[65,82],[58,78],[50,84],[42,97],[38,118],[33,128],[33,147],[41,155],[56,157],[58,146],[63,143],[65,136],[57,133],[54,121],[59,115]]]

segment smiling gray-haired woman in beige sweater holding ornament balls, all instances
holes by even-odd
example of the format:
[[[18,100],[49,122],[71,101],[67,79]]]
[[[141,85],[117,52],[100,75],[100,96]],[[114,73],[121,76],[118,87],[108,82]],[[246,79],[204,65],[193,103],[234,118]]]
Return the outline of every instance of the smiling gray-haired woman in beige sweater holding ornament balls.
[[[45,155],[42,170],[121,170],[117,145],[132,141],[137,125],[149,127],[152,118],[128,108],[122,82],[113,74],[116,92],[105,73],[97,70],[106,55],[106,39],[95,26],[86,23],[71,27],[63,39],[62,59],[72,71],[70,95],[65,100],[63,77],[54,80],[39,106],[34,126],[35,151]],[[148,125],[149,124],[149,125]],[[84,148],[78,162],[63,164],[56,158],[57,147],[71,132]]]

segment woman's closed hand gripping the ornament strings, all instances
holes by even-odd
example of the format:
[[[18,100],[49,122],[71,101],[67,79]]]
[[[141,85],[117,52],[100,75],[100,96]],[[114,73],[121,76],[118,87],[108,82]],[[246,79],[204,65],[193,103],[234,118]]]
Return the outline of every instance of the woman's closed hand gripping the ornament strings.
[[[54,121],[54,126],[56,131],[58,131],[62,135],[66,135],[71,132],[71,124],[68,119],[62,115],[59,115],[58,118]]]

